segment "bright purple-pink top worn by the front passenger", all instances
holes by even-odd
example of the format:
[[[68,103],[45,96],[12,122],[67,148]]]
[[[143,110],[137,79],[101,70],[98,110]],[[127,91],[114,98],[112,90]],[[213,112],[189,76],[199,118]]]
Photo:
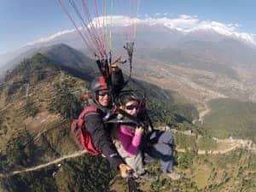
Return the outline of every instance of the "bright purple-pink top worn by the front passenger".
[[[118,139],[129,156],[137,154],[143,134],[136,135],[134,128],[128,125],[120,125]]]

